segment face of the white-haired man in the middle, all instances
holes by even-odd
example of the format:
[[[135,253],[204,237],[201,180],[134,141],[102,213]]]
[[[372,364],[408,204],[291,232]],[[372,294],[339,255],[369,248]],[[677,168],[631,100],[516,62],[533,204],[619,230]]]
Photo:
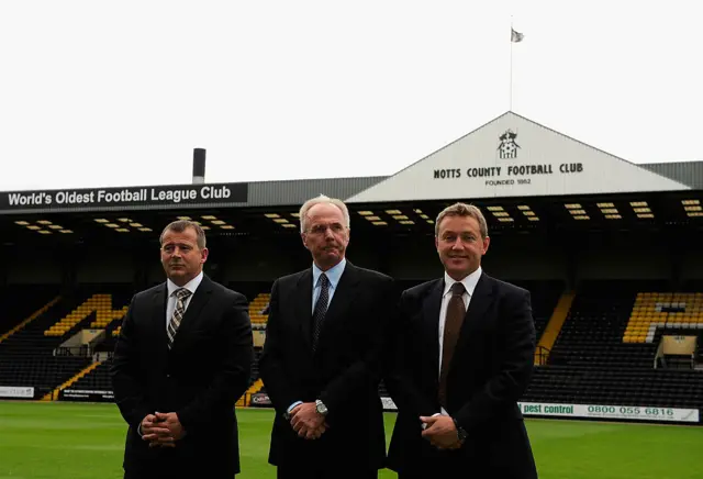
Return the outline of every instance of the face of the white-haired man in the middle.
[[[349,244],[349,229],[344,214],[330,203],[315,204],[308,210],[306,231],[301,236],[315,265],[322,270],[339,263]]]

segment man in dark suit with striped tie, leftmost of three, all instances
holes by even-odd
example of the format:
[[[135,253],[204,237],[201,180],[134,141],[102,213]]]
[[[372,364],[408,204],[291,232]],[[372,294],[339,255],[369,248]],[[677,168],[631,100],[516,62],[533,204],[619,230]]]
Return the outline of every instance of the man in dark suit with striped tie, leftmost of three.
[[[160,245],[168,279],[132,299],[111,369],[129,424],[125,478],[233,478],[234,404],[253,359],[248,303],[203,274],[208,248],[197,223],[169,224]]]

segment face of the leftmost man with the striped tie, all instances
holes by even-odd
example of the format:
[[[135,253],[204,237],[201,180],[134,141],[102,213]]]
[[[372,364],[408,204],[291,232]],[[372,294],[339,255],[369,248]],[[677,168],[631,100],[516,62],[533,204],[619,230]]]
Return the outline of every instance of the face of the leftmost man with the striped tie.
[[[192,227],[182,233],[168,230],[161,241],[161,265],[166,276],[178,286],[185,286],[202,271],[208,248],[198,247],[198,234]]]

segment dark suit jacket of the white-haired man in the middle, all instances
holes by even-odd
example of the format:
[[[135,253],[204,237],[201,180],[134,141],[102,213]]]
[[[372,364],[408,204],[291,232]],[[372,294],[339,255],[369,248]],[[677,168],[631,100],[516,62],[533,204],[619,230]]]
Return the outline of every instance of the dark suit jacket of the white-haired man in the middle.
[[[269,463],[321,468],[382,468],[383,408],[378,394],[383,334],[397,304],[393,280],[347,260],[312,353],[312,268],[278,279],[271,290],[259,367],[276,408]],[[295,401],[321,399],[330,428],[299,438],[283,417]]]

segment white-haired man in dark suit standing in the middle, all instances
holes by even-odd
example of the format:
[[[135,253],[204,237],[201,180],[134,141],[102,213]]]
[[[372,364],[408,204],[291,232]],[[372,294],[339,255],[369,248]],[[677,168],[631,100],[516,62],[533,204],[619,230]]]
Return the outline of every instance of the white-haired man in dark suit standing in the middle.
[[[259,363],[276,409],[269,463],[281,479],[377,478],[386,460],[378,385],[393,281],[345,258],[342,201],[305,202],[300,224],[313,265],[274,283]]]

